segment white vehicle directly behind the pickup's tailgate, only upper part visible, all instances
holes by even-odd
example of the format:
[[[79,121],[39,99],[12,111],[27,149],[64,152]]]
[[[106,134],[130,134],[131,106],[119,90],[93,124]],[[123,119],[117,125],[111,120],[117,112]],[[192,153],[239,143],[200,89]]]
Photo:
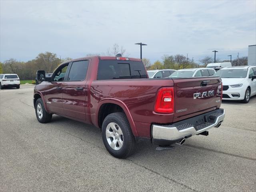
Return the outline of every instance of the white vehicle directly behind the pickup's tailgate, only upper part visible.
[[[180,69],[173,74],[170,78],[177,77],[207,77],[215,74],[215,70],[211,68],[189,68],[189,69]]]

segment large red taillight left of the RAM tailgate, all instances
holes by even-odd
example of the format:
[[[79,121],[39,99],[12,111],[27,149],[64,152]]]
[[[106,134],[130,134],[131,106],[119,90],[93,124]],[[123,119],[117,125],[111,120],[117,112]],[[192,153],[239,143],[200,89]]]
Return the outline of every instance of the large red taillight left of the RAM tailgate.
[[[161,88],[156,96],[154,111],[156,113],[173,113],[174,90],[173,87]]]

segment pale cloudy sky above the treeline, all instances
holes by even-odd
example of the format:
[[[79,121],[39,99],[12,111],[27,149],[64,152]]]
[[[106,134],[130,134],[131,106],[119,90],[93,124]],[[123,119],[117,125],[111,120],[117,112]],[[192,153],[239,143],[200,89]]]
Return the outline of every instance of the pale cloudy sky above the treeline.
[[[0,0],[0,61],[106,53],[114,43],[151,63],[164,54],[228,60],[256,44],[256,0],[11,1]]]

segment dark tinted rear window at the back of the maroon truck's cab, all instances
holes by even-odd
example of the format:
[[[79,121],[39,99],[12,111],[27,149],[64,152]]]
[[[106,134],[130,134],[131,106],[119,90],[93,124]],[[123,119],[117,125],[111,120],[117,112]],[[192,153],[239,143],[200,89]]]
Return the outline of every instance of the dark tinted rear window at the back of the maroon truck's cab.
[[[97,80],[147,78],[144,64],[129,60],[100,60]]]

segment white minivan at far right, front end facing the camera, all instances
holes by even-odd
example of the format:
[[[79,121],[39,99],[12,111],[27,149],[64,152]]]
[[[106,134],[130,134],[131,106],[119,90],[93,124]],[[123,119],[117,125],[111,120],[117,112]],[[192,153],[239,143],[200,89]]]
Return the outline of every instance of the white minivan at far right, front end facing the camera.
[[[223,85],[223,100],[250,101],[256,95],[256,66],[225,67],[216,72]]]

